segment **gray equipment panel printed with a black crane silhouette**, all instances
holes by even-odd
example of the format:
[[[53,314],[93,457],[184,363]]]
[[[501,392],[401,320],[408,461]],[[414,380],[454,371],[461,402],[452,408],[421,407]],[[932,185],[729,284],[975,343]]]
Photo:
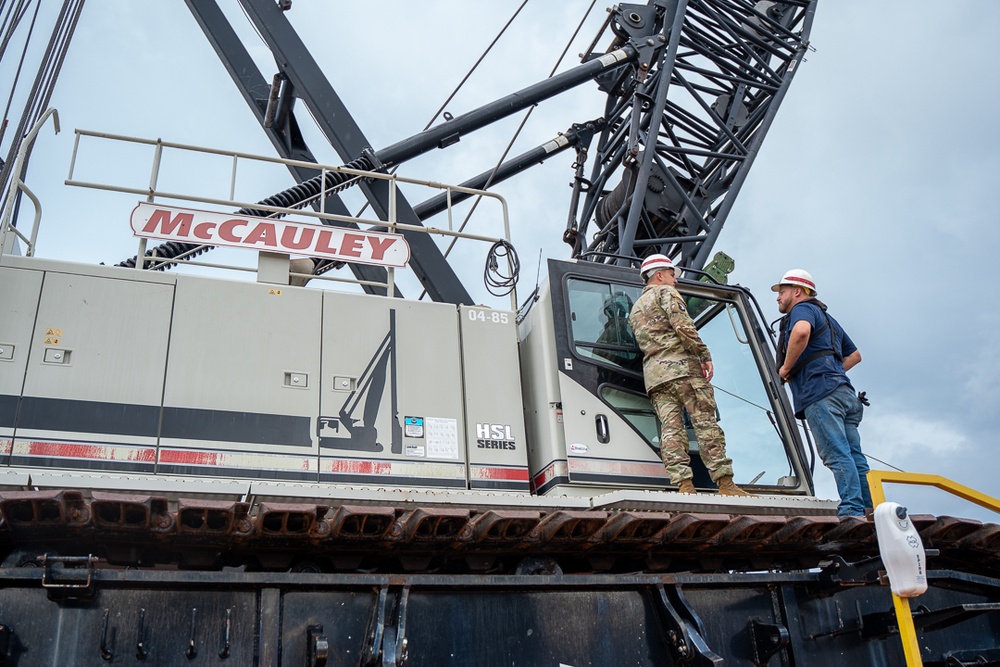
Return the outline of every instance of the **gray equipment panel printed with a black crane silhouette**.
[[[458,314],[324,293],[320,479],[467,486]]]

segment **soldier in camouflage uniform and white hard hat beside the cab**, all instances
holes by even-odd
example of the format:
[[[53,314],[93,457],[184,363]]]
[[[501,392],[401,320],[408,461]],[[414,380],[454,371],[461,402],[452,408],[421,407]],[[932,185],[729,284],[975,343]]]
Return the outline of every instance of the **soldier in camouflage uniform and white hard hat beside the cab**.
[[[660,457],[670,483],[681,493],[695,493],[682,410],[698,437],[698,451],[723,496],[751,494],[733,484],[733,462],[726,458],[726,438],[715,421],[715,394],[709,381],[712,355],[695,329],[677,292],[673,263],[650,255],[639,270],[646,287],[632,307],[629,323],[643,352],[646,392],[660,418]]]

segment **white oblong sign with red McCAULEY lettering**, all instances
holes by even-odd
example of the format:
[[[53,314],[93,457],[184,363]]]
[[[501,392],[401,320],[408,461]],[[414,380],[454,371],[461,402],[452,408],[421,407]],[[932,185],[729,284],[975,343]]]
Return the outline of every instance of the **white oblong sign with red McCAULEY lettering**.
[[[146,202],[139,202],[132,211],[130,222],[136,236],[150,239],[266,250],[397,268],[406,266],[410,261],[410,246],[399,234],[209,213]]]

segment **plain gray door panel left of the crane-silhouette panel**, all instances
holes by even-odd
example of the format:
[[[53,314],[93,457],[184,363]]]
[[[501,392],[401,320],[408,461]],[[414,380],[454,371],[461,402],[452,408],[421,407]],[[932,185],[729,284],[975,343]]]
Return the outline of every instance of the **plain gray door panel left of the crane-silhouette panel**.
[[[161,446],[314,477],[321,310],[314,290],[178,276]]]

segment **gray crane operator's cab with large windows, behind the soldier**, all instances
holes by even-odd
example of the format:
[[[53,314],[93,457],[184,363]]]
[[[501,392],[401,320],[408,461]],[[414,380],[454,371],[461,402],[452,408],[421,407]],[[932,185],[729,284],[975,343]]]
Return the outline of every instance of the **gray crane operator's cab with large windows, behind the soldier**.
[[[746,297],[738,288],[703,283],[678,288],[713,355],[717,414],[736,481],[784,492],[806,489],[801,443]],[[549,290],[533,309],[544,301],[547,312],[535,313],[522,331],[522,357],[548,369],[547,378],[526,377],[532,384],[525,391],[529,433],[538,433],[533,440],[542,443],[533,447],[531,466],[539,493],[565,491],[567,485],[673,488],[660,460],[659,423],[645,391],[642,353],[628,323],[641,293],[634,269],[549,261]],[[545,359],[535,329],[546,328],[548,314],[554,345]],[[547,395],[538,390],[546,386]],[[549,427],[555,437],[540,433],[550,416],[542,414],[546,409],[557,412],[555,427]],[[688,441],[695,485],[713,488],[690,427]]]

